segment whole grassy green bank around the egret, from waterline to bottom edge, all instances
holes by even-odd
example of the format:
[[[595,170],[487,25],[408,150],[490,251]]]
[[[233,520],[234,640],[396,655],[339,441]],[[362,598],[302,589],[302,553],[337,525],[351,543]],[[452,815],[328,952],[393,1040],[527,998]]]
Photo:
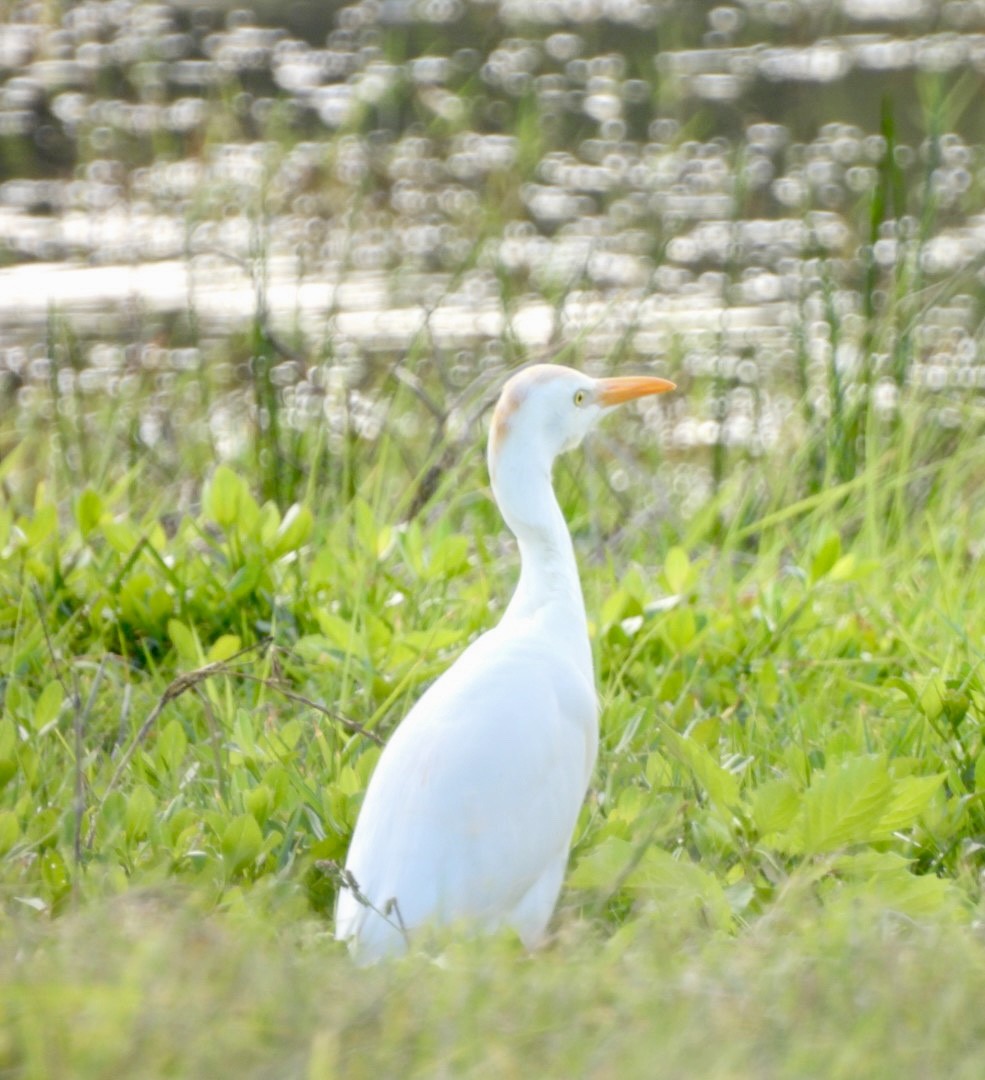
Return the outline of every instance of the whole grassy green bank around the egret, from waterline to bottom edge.
[[[957,434],[909,397],[869,414],[842,483],[813,484],[810,442],[736,459],[687,521],[649,510],[676,464],[642,427],[618,436],[626,492],[605,435],[566,459],[604,713],[556,940],[368,972],[330,912],[378,741],[515,575],[478,446],[293,433],[288,508],[257,497],[269,456],[206,476],[190,438],[148,483],[152,461],[107,451],[125,409],[89,455],[22,418],[0,509],[2,1066],[975,1075],[983,416],[956,406]],[[396,390],[391,416],[422,409]],[[62,447],[84,437],[64,415]]]

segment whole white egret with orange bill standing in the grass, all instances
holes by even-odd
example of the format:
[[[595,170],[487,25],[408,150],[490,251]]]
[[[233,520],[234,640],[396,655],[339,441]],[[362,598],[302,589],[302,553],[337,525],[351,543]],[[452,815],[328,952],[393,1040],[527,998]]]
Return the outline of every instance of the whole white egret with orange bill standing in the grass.
[[[598,745],[584,602],[551,468],[612,406],[673,389],[552,364],[505,383],[488,467],[520,582],[369,781],[336,906],[336,936],[361,961],[403,951],[427,924],[512,927],[528,947],[543,937]]]

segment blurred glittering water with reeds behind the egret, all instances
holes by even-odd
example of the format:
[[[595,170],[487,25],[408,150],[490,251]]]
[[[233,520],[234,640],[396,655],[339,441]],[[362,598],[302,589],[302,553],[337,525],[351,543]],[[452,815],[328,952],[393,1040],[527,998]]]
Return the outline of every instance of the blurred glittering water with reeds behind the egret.
[[[557,354],[680,382],[685,517],[850,478],[985,387],[983,78],[982,0],[5,3],[0,448],[286,500],[394,378],[414,477]]]

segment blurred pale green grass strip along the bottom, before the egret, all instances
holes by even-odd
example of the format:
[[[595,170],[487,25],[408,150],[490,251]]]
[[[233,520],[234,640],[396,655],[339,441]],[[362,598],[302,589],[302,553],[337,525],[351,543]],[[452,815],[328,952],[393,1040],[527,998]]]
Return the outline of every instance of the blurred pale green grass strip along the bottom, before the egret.
[[[355,971],[321,923],[143,895],[3,948],[0,1063],[37,1077],[976,1077],[985,942],[791,895],[732,937],[567,924]]]

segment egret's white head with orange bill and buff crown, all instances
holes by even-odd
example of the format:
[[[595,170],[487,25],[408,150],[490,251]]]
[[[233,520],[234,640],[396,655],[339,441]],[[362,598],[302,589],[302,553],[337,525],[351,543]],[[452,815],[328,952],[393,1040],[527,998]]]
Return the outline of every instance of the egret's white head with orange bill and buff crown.
[[[584,438],[599,417],[623,402],[661,394],[674,383],[655,376],[593,379],[559,364],[536,364],[510,379],[492,413],[489,472],[504,455],[517,463],[550,469],[558,454]]]

